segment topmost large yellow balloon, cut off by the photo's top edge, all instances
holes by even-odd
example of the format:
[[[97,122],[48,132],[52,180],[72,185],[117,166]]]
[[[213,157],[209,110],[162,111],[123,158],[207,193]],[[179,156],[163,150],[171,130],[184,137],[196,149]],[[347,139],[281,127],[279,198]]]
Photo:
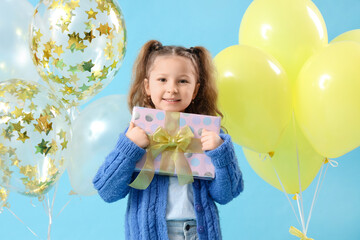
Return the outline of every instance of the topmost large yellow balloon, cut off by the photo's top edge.
[[[306,59],[327,42],[325,21],[311,0],[253,1],[239,30],[239,43],[259,47],[275,57],[291,85]]]

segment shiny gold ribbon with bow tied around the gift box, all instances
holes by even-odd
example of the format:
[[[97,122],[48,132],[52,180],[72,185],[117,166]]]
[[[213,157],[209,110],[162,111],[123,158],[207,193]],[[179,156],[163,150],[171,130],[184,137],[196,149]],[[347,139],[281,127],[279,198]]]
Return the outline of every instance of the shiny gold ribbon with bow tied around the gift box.
[[[179,129],[179,112],[165,112],[165,127],[158,127],[149,135],[146,161],[139,175],[129,184],[130,187],[144,190],[154,178],[154,160],[161,154],[159,174],[176,174],[180,185],[194,181],[191,168],[184,153],[202,153],[200,139],[194,138],[189,126]]]

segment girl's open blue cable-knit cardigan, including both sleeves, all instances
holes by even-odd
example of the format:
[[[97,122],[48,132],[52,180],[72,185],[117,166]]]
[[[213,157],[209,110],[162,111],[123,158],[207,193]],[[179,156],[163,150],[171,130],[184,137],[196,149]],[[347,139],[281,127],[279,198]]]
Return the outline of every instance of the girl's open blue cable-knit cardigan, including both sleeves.
[[[199,239],[222,239],[215,202],[226,204],[243,190],[242,174],[231,138],[220,134],[224,142],[216,149],[205,151],[215,166],[214,180],[194,179],[194,209]],[[135,164],[145,154],[125,134],[121,134],[113,151],[99,168],[93,184],[106,202],[128,197],[125,236],[131,240],[168,240],[166,204],[169,177],[155,175],[149,187],[138,190],[128,186],[138,173]]]

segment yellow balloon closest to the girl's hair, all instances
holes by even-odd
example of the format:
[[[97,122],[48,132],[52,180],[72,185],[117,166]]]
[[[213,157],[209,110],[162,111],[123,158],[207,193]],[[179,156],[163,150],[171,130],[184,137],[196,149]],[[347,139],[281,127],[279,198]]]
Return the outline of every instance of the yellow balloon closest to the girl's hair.
[[[258,152],[274,151],[291,116],[287,76],[265,52],[235,45],[214,59],[219,106],[236,143]]]

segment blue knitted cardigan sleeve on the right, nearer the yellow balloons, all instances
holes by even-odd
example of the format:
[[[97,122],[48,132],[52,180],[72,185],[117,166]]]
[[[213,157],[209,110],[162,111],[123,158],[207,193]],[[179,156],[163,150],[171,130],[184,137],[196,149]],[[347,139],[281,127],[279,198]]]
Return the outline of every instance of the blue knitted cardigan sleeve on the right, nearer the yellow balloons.
[[[205,151],[215,167],[215,179],[208,182],[208,189],[216,202],[226,204],[243,191],[244,182],[231,137],[223,133],[220,137],[224,142],[219,147]]]

